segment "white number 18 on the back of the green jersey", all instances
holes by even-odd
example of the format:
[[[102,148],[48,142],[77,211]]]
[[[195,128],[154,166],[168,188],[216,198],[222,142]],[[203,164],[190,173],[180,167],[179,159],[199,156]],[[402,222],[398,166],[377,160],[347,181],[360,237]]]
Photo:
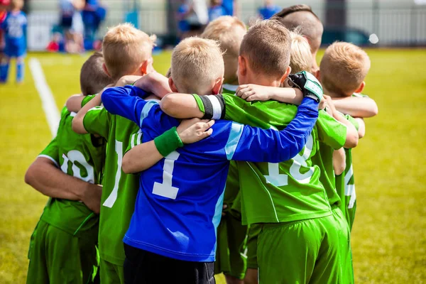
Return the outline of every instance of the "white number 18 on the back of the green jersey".
[[[290,167],[290,175],[300,183],[309,183],[310,179],[314,173],[314,168],[310,167],[306,173],[300,173],[300,168],[302,166],[307,167],[306,160],[310,157],[312,153],[312,146],[314,145],[314,138],[312,134],[307,138],[305,148],[302,155],[298,153],[292,159],[293,164]],[[279,173],[279,164],[278,163],[268,163],[268,175],[265,175],[266,182],[275,185],[276,187],[288,185],[288,175]]]

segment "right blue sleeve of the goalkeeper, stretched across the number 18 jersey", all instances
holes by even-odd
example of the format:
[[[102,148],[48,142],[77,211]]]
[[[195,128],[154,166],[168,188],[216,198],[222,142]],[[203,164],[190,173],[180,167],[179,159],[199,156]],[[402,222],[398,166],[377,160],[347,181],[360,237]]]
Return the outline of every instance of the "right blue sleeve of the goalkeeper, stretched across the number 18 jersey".
[[[228,160],[279,163],[302,151],[318,118],[318,103],[305,98],[293,121],[282,131],[232,123],[225,146]]]

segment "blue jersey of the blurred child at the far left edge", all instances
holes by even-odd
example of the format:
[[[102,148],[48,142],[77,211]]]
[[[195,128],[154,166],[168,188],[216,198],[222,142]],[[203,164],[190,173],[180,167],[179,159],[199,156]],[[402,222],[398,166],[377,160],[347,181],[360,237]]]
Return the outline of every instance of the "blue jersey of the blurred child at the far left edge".
[[[1,24],[5,31],[6,53],[9,57],[20,57],[26,53],[26,15],[22,11],[9,12]]]

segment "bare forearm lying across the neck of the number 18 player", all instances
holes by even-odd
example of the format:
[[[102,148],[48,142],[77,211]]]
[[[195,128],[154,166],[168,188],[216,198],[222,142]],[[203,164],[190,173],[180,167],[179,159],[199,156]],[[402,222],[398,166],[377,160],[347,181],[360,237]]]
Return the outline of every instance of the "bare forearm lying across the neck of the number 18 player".
[[[257,84],[243,84],[236,89],[236,95],[247,102],[268,101],[273,99],[278,102],[300,105],[303,93],[300,89],[291,87],[266,87]]]

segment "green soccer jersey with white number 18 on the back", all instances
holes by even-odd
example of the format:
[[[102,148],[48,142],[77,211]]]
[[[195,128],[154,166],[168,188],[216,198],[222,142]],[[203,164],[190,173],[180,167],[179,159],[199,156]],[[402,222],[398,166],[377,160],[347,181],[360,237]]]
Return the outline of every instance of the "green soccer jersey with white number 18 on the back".
[[[203,103],[207,100],[198,96],[195,99],[200,109],[213,108],[217,118],[263,129],[283,129],[297,112],[294,105],[274,101],[246,102],[231,94],[209,96],[208,104],[211,105],[207,108]],[[320,111],[305,147],[293,159],[282,163],[237,162],[243,224],[292,222],[332,214],[320,182],[320,168],[311,160],[317,152],[317,141],[334,149],[342,148],[346,126]]]

